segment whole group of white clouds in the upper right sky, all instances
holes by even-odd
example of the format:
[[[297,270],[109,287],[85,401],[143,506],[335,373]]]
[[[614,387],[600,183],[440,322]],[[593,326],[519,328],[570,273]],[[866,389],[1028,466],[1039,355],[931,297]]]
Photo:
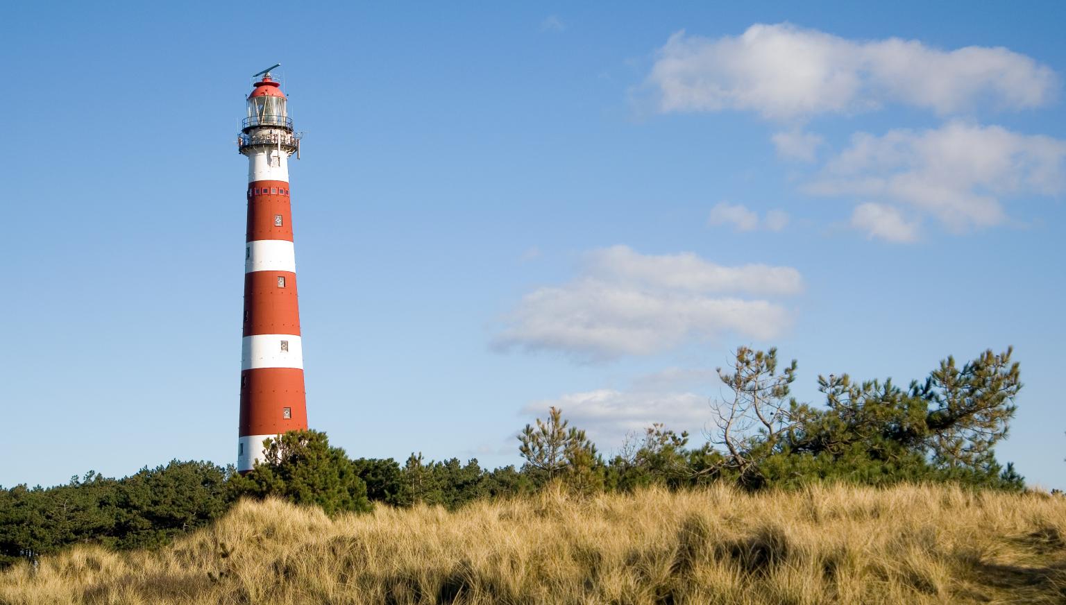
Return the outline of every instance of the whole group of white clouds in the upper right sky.
[[[900,38],[847,39],[789,23],[749,27],[740,36],[674,34],[645,84],[660,112],[755,112],[790,122],[772,136],[778,158],[813,164],[825,140],[804,130],[824,114],[889,105],[949,116],[940,128],[853,135],[803,191],[855,200],[850,226],[895,243],[920,239],[932,217],[960,233],[1007,220],[1003,200],[1059,195],[1066,142],[960,121],[974,110],[1048,105],[1060,77],[1003,47],[942,50]],[[743,207],[715,209],[712,224],[753,230]]]

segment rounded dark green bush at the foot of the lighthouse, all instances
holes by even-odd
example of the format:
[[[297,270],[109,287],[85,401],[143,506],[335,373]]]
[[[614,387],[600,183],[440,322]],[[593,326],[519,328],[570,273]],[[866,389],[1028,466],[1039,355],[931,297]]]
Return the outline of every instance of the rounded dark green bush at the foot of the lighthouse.
[[[329,514],[371,509],[359,467],[343,449],[330,446],[324,432],[290,430],[268,439],[263,454],[265,459],[248,474],[230,479],[236,497],[274,495],[320,506]]]

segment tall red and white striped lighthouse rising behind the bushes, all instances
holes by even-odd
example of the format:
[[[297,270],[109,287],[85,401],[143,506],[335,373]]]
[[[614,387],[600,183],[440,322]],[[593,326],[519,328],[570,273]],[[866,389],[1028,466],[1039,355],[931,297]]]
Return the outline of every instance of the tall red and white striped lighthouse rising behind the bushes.
[[[300,134],[273,65],[256,73],[237,148],[248,158],[244,243],[244,318],[237,470],[263,459],[263,440],[307,428],[304,356],[296,304],[296,259],[289,157]]]

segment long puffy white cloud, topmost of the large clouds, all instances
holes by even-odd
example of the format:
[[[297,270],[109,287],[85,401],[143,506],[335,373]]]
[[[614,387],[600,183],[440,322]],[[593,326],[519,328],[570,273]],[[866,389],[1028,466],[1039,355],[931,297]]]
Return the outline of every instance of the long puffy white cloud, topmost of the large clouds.
[[[757,23],[716,39],[683,31],[659,49],[647,79],[662,112],[749,110],[770,118],[903,103],[944,115],[1047,104],[1059,80],[1002,47],[944,51],[917,40],[852,40],[789,23]]]

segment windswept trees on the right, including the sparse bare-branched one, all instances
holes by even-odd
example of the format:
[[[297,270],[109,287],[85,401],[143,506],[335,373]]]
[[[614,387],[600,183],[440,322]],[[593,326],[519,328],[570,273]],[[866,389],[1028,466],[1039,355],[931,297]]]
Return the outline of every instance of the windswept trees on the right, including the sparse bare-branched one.
[[[940,362],[908,389],[891,379],[855,381],[819,376],[825,406],[789,397],[796,364],[777,371],[777,351],[740,347],[730,371],[718,370],[718,402],[710,441],[721,447],[712,475],[741,485],[800,485],[843,479],[861,484],[953,479],[1019,488],[1013,467],[992,448],[1006,436],[1021,389],[1012,349],[986,350],[958,367]]]

